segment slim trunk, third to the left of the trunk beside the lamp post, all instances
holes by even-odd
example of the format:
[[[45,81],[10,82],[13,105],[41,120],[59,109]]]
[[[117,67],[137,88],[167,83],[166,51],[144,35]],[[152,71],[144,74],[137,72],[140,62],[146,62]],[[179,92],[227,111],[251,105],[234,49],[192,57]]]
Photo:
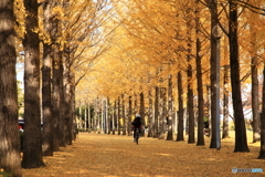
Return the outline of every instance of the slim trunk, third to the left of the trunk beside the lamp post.
[[[178,135],[177,142],[184,140],[184,107],[183,107],[183,87],[182,87],[182,74],[178,72],[178,97],[179,97],[179,111],[178,111]]]

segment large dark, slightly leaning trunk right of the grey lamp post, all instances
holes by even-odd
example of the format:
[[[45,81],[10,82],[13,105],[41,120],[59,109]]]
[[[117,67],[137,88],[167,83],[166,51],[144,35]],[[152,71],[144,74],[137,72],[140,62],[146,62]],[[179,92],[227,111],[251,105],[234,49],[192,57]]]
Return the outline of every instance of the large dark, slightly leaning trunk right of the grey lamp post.
[[[234,152],[250,152],[246,140],[245,119],[243,114],[243,105],[241,98],[240,82],[240,61],[239,61],[239,43],[237,43],[237,2],[230,0],[230,71],[232,98],[235,119],[235,149]]]

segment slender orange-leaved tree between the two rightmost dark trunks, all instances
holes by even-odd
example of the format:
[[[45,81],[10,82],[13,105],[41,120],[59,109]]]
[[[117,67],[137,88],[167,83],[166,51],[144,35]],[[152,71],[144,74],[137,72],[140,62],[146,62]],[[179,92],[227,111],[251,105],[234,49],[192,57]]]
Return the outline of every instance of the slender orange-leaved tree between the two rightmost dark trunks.
[[[250,1],[251,6],[261,6],[261,1]],[[263,19],[258,12],[253,13],[252,9],[246,9],[246,12],[243,14],[244,20],[247,25],[244,28],[244,34],[242,38],[242,42],[240,41],[243,51],[246,53],[248,58],[246,58],[246,64],[251,64],[251,76],[248,79],[252,83],[252,114],[253,114],[253,142],[258,142],[261,138],[261,117],[259,117],[259,102],[258,98],[258,75],[261,75],[262,69],[262,50],[263,50],[263,41],[258,40],[264,37],[263,30]],[[250,41],[250,42],[245,42]],[[251,59],[251,61],[250,61]],[[250,66],[248,66],[250,69]]]

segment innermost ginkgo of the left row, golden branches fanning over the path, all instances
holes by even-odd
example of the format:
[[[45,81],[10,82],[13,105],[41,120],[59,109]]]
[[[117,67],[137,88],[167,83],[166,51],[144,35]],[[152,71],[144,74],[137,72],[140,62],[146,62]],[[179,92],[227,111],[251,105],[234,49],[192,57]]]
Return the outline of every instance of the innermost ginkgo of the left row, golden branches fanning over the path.
[[[64,86],[67,92],[65,98],[70,101],[74,95],[71,85],[76,86],[80,80],[89,72],[93,61],[107,49],[107,46],[103,46],[104,39],[99,28],[112,13],[107,8],[107,1],[80,1],[78,3],[68,1],[68,4],[63,4],[61,9],[64,10],[61,17],[64,31],[62,39],[57,40],[60,40],[64,53]],[[66,114],[70,114],[67,111],[72,110],[68,101],[64,102],[67,105]],[[71,138],[73,115],[64,116],[64,118],[68,123],[66,124],[66,129],[68,129],[66,135]],[[71,144],[71,139],[68,139],[68,144]]]

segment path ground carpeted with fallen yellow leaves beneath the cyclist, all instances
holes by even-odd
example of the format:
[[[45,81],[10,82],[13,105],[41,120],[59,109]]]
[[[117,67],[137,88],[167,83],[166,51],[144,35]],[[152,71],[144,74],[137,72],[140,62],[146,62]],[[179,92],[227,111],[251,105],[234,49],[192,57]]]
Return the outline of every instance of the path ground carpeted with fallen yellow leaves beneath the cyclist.
[[[248,144],[250,153],[233,153],[233,138],[222,139],[221,149],[184,142],[131,136],[81,133],[73,145],[44,157],[46,167],[23,169],[24,177],[200,177],[265,176],[265,173],[232,173],[232,168],[263,168],[256,159],[259,143]]]

